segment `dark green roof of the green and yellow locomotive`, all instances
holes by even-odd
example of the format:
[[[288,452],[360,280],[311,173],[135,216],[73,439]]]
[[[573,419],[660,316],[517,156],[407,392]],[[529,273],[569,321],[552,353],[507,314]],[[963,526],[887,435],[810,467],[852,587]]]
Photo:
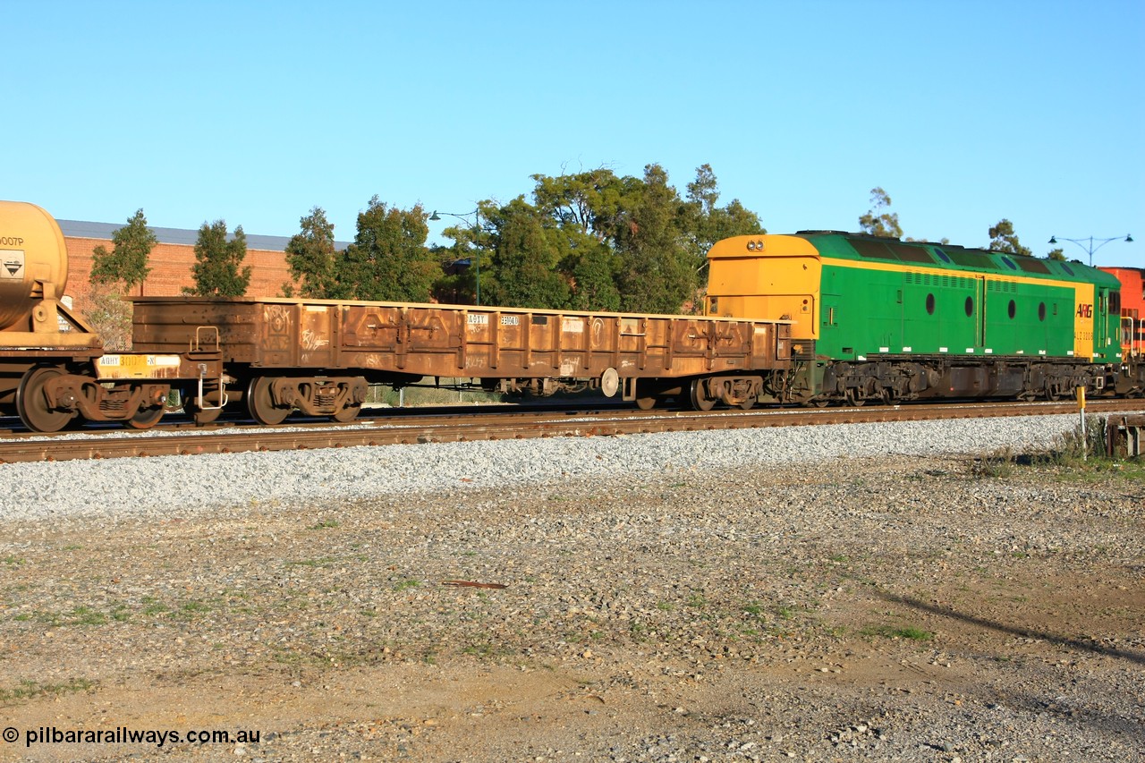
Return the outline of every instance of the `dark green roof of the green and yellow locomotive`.
[[[971,270],[995,275],[1081,281],[1120,288],[1115,277],[1077,260],[1063,262],[1041,257],[1025,257],[986,249],[971,249],[934,242],[903,242],[898,238],[838,230],[800,230],[823,257],[858,261],[898,262],[903,267],[933,267]]]

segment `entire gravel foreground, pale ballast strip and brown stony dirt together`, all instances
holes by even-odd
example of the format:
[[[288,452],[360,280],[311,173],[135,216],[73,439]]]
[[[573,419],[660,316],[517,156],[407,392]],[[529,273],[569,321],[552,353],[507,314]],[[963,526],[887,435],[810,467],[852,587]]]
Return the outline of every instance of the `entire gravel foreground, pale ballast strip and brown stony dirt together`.
[[[2,465],[0,760],[1139,760],[1140,467],[976,469],[1073,423]]]

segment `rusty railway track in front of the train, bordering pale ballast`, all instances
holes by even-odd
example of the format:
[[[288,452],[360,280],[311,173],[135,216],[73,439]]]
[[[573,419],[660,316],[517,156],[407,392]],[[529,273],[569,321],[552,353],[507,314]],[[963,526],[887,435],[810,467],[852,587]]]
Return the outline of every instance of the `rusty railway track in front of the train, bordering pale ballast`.
[[[1090,401],[1092,414],[1140,411],[1139,401]],[[289,428],[223,425],[204,430],[175,425],[129,434],[124,430],[68,435],[14,434],[0,440],[0,463],[54,462],[125,457],[187,456],[244,451],[306,450],[424,442],[464,442],[551,436],[613,436],[653,432],[807,426],[942,418],[1075,414],[1076,404],[973,402],[876,408],[760,409],[750,411],[590,411],[434,412],[365,416],[353,425],[302,423]]]

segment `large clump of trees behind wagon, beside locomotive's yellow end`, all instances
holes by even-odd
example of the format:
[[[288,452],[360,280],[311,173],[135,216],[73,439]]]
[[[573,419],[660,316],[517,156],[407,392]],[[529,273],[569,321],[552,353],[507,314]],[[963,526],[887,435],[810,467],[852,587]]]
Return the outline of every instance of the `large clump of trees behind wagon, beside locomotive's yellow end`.
[[[687,200],[656,164],[642,176],[608,167],[534,175],[532,198],[480,204],[482,228],[456,226],[451,261],[481,265],[482,301],[576,310],[678,313],[703,288],[716,241],[761,233],[739,200],[719,206],[710,165],[696,170]],[[472,273],[440,278],[439,297],[472,301]],[[488,294],[488,297],[487,297]]]

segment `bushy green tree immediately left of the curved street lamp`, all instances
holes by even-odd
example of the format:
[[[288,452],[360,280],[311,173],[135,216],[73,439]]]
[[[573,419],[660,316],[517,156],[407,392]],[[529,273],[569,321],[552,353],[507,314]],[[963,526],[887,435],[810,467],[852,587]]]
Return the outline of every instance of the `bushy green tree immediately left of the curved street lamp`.
[[[354,243],[334,261],[337,298],[429,301],[441,266],[425,245],[426,217],[420,204],[405,211],[371,198]]]

